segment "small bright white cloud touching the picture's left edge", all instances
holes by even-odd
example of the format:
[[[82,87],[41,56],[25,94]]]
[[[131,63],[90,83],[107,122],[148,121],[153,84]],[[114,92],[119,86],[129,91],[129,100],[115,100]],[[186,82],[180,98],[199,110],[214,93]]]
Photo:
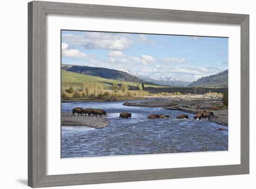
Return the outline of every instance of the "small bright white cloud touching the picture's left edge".
[[[78,49],[69,48],[67,43],[61,44],[61,56],[62,57],[74,57],[74,58],[87,58],[88,56]]]

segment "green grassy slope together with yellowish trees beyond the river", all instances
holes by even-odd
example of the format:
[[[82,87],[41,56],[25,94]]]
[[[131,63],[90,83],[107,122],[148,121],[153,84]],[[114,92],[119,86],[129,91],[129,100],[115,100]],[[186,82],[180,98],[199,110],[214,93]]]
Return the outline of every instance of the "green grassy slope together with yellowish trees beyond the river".
[[[224,93],[227,88],[191,88],[123,82],[61,70],[63,100],[140,100],[151,96]]]

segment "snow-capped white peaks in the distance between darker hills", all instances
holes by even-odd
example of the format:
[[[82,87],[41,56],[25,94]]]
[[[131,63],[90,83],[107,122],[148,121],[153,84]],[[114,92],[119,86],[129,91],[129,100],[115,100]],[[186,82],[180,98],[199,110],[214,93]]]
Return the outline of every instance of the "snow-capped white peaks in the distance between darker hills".
[[[125,72],[131,76],[138,77],[139,79],[142,79],[146,82],[153,82],[159,85],[187,86],[192,82],[190,80],[181,79],[175,76],[141,76],[140,74],[137,74],[134,71],[131,71],[127,68],[118,68],[117,70]]]

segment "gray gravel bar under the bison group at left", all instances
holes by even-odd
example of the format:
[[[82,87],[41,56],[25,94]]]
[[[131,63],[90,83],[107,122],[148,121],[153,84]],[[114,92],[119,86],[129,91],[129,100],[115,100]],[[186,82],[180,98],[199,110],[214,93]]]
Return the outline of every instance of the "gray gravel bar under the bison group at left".
[[[72,113],[61,112],[61,126],[88,126],[100,129],[108,124],[108,120],[104,116],[103,118],[85,115],[72,116]]]

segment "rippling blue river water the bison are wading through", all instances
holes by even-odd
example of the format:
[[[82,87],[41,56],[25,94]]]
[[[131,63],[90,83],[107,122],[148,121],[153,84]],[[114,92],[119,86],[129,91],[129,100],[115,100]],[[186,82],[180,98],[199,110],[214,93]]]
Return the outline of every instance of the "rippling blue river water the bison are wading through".
[[[92,107],[107,112],[109,125],[94,129],[86,126],[61,127],[61,157],[97,157],[177,152],[227,151],[228,127],[194,120],[193,114],[159,107],[128,107],[123,102],[62,103],[62,112],[74,107]],[[119,113],[132,113],[120,119]],[[149,114],[168,114],[165,119],[147,119]],[[178,120],[179,114],[189,119]],[[219,131],[223,127],[225,131]]]

